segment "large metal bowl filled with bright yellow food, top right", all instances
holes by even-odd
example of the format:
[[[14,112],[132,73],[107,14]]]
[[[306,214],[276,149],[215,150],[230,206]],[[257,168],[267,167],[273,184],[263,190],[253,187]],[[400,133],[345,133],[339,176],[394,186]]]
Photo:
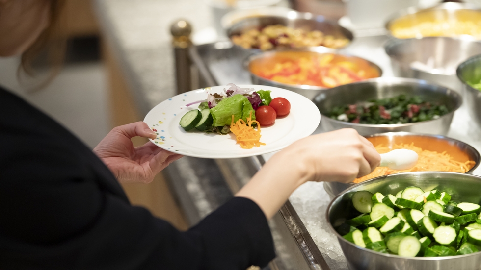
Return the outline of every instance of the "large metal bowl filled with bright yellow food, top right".
[[[395,38],[422,38],[427,36],[460,37],[468,35],[461,35],[461,33],[448,33],[443,28],[439,34],[431,33],[429,35],[423,35],[423,33],[418,31],[417,33],[413,33],[409,36],[400,36],[396,33],[393,33],[393,30],[400,27],[411,27],[433,21],[446,21],[450,23],[470,21],[474,24],[477,24],[480,20],[481,10],[476,5],[447,2],[428,9],[419,9],[415,7],[403,9],[391,16],[391,19],[389,19],[386,23],[386,29],[388,33]],[[433,29],[433,27],[432,25],[431,27],[426,26],[424,29]],[[471,36],[471,38],[481,39],[480,36]]]

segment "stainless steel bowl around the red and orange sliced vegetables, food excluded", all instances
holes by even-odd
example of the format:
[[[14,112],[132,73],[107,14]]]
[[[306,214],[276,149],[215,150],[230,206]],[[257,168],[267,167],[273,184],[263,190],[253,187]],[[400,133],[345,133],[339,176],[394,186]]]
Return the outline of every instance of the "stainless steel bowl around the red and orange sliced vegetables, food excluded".
[[[319,52],[319,53],[335,53],[333,52],[332,50],[330,49],[327,49],[327,48],[324,48],[324,47],[321,47],[321,48],[309,48],[309,49],[291,49],[290,51],[314,51],[314,52]],[[251,81],[252,81],[252,84],[260,84],[260,85],[267,85],[267,86],[274,86],[274,87],[279,87],[279,88],[284,88],[284,89],[287,89],[287,90],[291,90],[293,92],[296,92],[306,98],[309,98],[309,99],[313,99],[314,97],[316,97],[317,95],[319,95],[320,93],[323,93],[325,92],[326,90],[329,90],[331,88],[326,88],[326,87],[321,87],[321,86],[314,86],[314,85],[306,85],[306,84],[286,84],[286,83],[281,83],[281,82],[277,82],[277,81],[273,81],[273,80],[269,80],[269,79],[266,79],[266,78],[263,78],[263,77],[260,77],[254,73],[252,73],[249,69],[249,64],[251,61],[255,60],[255,59],[259,59],[259,58],[267,58],[267,57],[271,57],[272,55],[274,55],[276,52],[278,51],[266,51],[266,52],[263,52],[263,53],[259,53],[259,54],[253,54],[251,56],[249,56],[245,61],[244,61],[244,68],[249,71],[249,74],[250,74],[250,78],[251,78]],[[361,57],[357,57],[357,56],[352,56],[352,55],[348,55],[348,54],[345,54],[345,53],[336,53],[336,54],[339,54],[339,55],[344,55],[344,56],[348,56],[348,57],[353,57],[353,58],[356,58],[356,59],[362,59],[364,61],[366,61],[370,66],[374,67],[378,72],[379,72],[379,76],[382,75],[382,70],[381,68],[379,68],[379,66],[377,66],[376,64],[374,64],[373,62],[371,61],[368,61],[366,59],[363,59]]]

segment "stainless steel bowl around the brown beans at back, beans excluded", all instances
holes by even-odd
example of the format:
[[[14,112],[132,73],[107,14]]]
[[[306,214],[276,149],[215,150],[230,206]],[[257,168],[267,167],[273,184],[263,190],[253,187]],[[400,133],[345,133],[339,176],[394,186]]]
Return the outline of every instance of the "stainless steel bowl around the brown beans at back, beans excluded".
[[[260,29],[267,25],[284,25],[292,28],[302,28],[312,30],[319,30],[324,35],[331,35],[335,38],[347,38],[349,43],[343,47],[346,48],[354,39],[352,32],[346,28],[338,25],[336,22],[328,21],[321,15],[315,15],[312,13],[303,13],[290,11],[286,16],[252,16],[245,19],[241,19],[227,29],[227,36],[232,38],[233,35],[240,35],[242,31],[249,29]],[[260,49],[244,49],[240,46],[236,47],[242,50],[248,50],[252,53],[258,53]],[[323,46],[309,47],[309,48],[327,48]],[[328,48],[331,49],[331,48]],[[342,49],[342,48],[338,48]],[[331,49],[335,50],[335,49]]]

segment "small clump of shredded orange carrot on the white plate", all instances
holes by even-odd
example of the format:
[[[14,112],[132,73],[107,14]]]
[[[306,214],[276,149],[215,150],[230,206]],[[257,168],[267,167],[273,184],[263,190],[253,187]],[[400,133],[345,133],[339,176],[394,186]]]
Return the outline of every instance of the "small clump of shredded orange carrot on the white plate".
[[[260,142],[261,124],[255,120],[252,121],[252,111],[246,120],[247,123],[245,123],[242,119],[239,119],[236,123],[234,123],[234,115],[232,115],[231,132],[236,135],[237,143],[240,144],[240,147],[244,149],[260,147],[261,145],[265,146],[265,143]],[[252,126],[252,123],[257,124],[257,130]]]

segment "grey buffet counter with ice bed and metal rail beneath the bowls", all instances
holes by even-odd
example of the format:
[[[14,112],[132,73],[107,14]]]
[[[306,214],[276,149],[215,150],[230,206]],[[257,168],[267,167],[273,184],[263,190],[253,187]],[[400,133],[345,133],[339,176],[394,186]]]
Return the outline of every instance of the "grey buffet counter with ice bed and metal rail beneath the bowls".
[[[143,116],[161,101],[176,95],[169,25],[183,18],[195,29],[206,29],[211,26],[206,20],[211,18],[210,10],[199,0],[96,0],[95,3],[108,45],[121,64]],[[345,52],[374,62],[383,70],[383,77],[390,77],[391,63],[383,49],[387,39],[387,36],[356,38]],[[190,53],[205,81],[218,85],[251,83],[249,74],[241,68],[243,56],[230,42],[194,46]],[[321,132],[324,130],[320,126],[315,133]],[[455,112],[447,136],[481,151],[481,130],[472,123],[465,106]],[[189,225],[193,225],[230,199],[271,155],[223,160],[184,157],[165,169],[164,174]],[[474,174],[481,175],[481,168]],[[323,183],[306,183],[293,193],[269,222],[278,255],[269,264],[270,269],[347,269],[340,245],[325,218],[329,201]]]

